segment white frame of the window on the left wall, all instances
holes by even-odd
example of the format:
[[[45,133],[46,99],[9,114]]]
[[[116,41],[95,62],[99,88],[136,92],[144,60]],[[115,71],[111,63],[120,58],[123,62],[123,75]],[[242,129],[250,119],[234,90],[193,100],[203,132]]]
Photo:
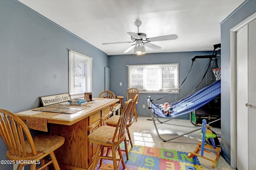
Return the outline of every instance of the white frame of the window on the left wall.
[[[74,56],[74,59],[73,59],[73,56]],[[87,66],[89,66],[89,68],[86,69],[86,73],[88,75],[84,76],[84,75],[76,75],[74,77],[80,77],[80,78],[85,78],[85,81],[82,82],[84,83],[84,90],[81,90],[79,93],[75,93],[73,94],[72,93],[72,90],[71,90],[71,78],[72,78],[72,75],[71,75],[71,60],[74,60],[74,61],[78,61],[78,62],[84,62],[86,61],[87,63]],[[85,74],[84,72],[84,65],[81,66],[81,72],[83,72],[83,74]],[[75,81],[75,79],[74,79]],[[87,87],[86,87],[87,86]],[[90,87],[88,87],[90,86]],[[88,57],[86,55],[83,55],[81,53],[78,53],[76,51],[72,51],[72,50],[68,50],[68,93],[70,94],[70,97],[72,99],[74,98],[84,98],[84,93],[85,92],[92,92],[92,58],[91,57]]]

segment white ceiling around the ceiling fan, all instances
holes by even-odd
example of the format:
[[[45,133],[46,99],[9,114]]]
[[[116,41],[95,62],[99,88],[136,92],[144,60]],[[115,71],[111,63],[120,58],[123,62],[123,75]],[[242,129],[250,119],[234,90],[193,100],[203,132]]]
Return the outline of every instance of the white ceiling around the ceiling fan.
[[[147,53],[209,51],[220,43],[220,22],[244,0],[19,0],[108,55],[121,55],[133,43],[127,32],[147,37],[176,34],[155,41],[162,47]],[[133,50],[125,54],[132,54]]]

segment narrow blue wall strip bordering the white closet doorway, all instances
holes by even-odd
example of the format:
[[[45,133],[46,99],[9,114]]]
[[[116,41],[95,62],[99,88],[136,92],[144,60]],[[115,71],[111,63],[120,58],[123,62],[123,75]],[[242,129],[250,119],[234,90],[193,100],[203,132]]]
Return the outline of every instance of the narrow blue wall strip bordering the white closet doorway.
[[[256,0],[247,0],[221,23],[221,146],[230,162],[230,29],[256,12]]]

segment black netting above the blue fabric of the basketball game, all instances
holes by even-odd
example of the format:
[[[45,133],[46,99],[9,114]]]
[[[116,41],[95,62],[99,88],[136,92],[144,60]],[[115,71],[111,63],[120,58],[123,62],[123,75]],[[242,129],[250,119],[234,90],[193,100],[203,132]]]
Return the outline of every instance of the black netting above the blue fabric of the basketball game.
[[[214,68],[220,68],[220,44],[214,45],[212,55],[195,56],[192,59],[188,76],[178,87],[178,93],[170,93],[164,98],[152,100],[152,103],[159,105],[168,102],[172,104],[212,84],[216,81],[212,71]]]

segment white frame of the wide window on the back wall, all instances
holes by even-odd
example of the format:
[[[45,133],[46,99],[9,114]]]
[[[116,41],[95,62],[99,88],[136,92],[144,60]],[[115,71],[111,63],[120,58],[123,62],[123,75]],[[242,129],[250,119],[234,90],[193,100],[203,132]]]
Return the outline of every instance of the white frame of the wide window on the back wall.
[[[127,87],[132,88],[132,74],[131,69],[132,68],[143,68],[143,86],[147,84],[146,82],[146,70],[147,68],[158,68],[158,77],[160,78],[158,82],[160,82],[159,86],[162,86],[162,67],[175,67],[176,72],[174,73],[174,88],[170,89],[158,89],[158,90],[147,90],[147,89],[138,89],[140,93],[178,93],[179,92],[179,63],[168,63],[168,64],[138,64],[138,65],[126,65],[127,67]]]

